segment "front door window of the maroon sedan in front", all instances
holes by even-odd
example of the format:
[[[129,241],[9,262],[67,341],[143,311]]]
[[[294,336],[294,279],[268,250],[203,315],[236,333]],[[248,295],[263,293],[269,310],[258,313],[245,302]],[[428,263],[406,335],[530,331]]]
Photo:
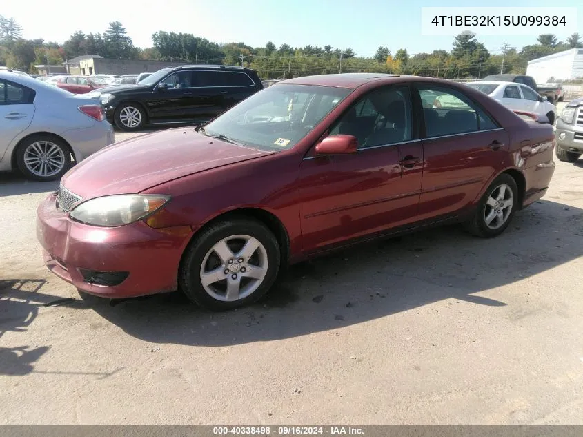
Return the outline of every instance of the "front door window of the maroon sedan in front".
[[[380,88],[351,106],[330,135],[353,135],[359,148],[384,146],[410,140],[412,119],[408,87]]]

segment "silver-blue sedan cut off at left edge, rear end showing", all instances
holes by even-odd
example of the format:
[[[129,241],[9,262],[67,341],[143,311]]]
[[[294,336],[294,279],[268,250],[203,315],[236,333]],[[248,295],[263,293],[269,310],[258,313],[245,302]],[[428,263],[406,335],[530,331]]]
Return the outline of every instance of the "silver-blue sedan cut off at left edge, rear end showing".
[[[59,179],[114,140],[95,101],[11,72],[0,71],[0,119],[0,171],[28,179]]]

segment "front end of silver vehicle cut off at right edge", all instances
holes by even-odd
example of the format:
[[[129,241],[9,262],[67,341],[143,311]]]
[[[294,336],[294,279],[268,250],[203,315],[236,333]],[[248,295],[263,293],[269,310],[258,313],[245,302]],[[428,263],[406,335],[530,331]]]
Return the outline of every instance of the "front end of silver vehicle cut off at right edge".
[[[583,153],[583,97],[571,100],[557,120],[555,132],[560,161],[575,162]]]

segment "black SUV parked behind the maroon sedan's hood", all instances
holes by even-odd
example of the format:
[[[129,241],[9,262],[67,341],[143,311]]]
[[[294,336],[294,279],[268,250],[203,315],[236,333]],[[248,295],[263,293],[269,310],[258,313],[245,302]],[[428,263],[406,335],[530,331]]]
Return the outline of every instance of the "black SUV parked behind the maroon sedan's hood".
[[[134,86],[99,88],[106,117],[121,130],[201,124],[261,90],[255,70],[231,66],[163,68]]]

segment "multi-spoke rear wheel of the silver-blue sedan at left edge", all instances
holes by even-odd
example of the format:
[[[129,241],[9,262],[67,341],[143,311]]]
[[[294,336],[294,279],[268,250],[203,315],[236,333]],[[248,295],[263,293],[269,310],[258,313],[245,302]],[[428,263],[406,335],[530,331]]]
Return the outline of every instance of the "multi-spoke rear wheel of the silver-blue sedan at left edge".
[[[19,170],[27,179],[48,182],[61,179],[71,166],[68,144],[52,135],[32,135],[16,150]]]

